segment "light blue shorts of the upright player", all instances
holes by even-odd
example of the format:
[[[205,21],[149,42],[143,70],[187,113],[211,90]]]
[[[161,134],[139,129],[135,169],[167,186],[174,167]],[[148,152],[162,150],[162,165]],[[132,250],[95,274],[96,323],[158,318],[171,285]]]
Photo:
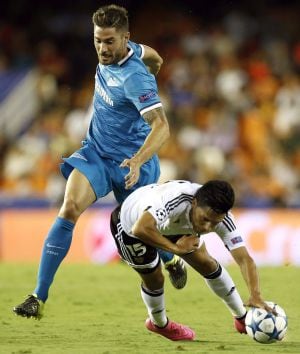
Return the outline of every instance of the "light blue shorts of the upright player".
[[[76,168],[89,180],[97,199],[113,191],[118,203],[123,202],[135,189],[156,183],[160,175],[159,159],[155,155],[141,167],[138,182],[127,190],[125,189],[125,176],[129,168],[122,168],[119,162],[101,157],[88,144],[63,160],[60,169],[66,179]]]

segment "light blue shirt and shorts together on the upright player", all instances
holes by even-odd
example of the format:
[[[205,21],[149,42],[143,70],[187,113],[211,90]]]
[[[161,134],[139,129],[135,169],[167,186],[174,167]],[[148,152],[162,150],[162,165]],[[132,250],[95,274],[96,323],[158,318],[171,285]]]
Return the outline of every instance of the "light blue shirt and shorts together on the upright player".
[[[142,114],[162,106],[155,78],[141,60],[143,46],[129,42],[128,49],[118,64],[97,66],[94,112],[86,141],[61,165],[65,178],[74,168],[84,174],[97,199],[113,191],[119,203],[133,190],[157,182],[160,175],[154,155],[141,166],[138,182],[125,188],[129,169],[121,168],[120,162],[131,158],[150,132]]]

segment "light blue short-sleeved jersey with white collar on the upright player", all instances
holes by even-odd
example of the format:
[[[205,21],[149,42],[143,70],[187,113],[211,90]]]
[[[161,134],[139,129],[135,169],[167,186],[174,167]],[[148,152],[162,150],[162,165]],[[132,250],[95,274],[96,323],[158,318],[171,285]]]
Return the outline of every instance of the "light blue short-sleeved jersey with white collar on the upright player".
[[[130,42],[118,64],[98,64],[87,143],[117,162],[131,158],[150,132],[142,114],[162,106],[155,77],[142,62],[143,47]]]

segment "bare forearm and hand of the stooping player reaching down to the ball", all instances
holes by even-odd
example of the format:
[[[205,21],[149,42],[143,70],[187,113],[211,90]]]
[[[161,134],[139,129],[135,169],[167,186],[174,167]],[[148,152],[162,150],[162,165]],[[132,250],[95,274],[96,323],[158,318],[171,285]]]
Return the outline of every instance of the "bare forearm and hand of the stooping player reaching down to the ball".
[[[246,306],[261,307],[272,312],[272,309],[263,301],[260,295],[259,277],[256,264],[249,255],[246,247],[239,247],[231,251],[232,257],[239,265],[243,278],[247,284],[250,297]]]

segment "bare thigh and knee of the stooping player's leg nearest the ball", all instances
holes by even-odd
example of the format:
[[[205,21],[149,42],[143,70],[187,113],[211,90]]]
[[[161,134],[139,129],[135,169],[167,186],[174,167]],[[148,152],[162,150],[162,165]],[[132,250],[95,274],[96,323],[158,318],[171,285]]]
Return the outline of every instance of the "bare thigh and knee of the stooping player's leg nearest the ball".
[[[201,275],[208,275],[217,268],[216,260],[207,252],[205,243],[200,248],[182,258]]]

